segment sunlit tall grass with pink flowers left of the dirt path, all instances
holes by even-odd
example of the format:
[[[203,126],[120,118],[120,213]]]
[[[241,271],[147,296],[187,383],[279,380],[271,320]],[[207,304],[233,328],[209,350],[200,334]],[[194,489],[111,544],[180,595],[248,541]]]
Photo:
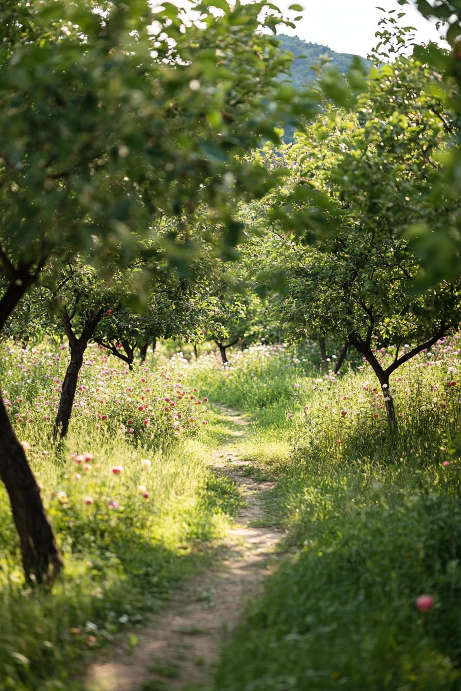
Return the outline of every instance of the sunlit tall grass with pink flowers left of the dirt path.
[[[232,482],[207,465],[214,427],[225,435],[225,423],[196,404],[200,392],[192,392],[185,361],[126,372],[94,350],[68,439],[53,446],[62,351],[49,343],[24,351],[11,346],[9,357],[3,397],[65,567],[52,593],[24,585],[0,489],[0,689],[67,691],[81,688],[73,680],[84,651],[142,621],[213,557],[240,500]]]

